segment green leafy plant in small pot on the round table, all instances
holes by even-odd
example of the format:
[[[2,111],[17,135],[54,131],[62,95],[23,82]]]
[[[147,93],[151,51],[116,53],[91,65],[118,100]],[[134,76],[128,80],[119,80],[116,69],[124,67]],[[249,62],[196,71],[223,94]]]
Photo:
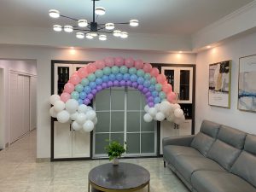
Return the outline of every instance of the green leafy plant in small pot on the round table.
[[[126,143],[125,143],[126,144]],[[108,145],[105,147],[109,160],[113,160],[113,166],[119,165],[119,159],[126,149],[120,143],[116,141],[108,141]]]

